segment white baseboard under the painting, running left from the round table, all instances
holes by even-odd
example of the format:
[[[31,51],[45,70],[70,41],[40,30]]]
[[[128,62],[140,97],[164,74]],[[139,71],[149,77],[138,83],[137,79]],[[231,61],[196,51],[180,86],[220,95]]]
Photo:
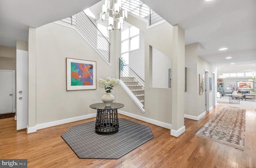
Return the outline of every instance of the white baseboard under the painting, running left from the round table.
[[[30,128],[27,127],[27,133],[34,133],[38,129],[44,129],[44,128],[53,127],[53,126],[56,126],[56,125],[71,123],[71,122],[74,122],[74,121],[80,121],[80,120],[83,120],[83,119],[89,119],[89,118],[93,118],[93,117],[96,117],[96,113],[88,114],[88,115],[82,115],[82,116],[79,116],[79,117],[73,117],[73,118],[68,118],[68,119],[62,119],[62,120],[58,120],[58,121],[52,121],[52,122],[49,122],[49,123],[37,124],[36,127],[30,127]]]

